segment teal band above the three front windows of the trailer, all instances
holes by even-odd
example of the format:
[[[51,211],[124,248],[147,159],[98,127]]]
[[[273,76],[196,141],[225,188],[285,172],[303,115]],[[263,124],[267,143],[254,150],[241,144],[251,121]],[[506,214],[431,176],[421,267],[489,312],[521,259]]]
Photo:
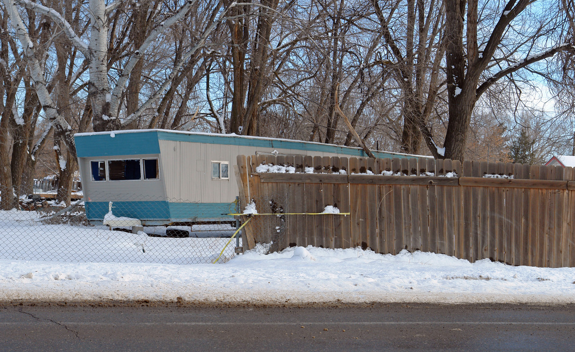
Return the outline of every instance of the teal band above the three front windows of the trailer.
[[[80,158],[93,156],[160,154],[157,131],[112,133],[75,136],[76,154]]]

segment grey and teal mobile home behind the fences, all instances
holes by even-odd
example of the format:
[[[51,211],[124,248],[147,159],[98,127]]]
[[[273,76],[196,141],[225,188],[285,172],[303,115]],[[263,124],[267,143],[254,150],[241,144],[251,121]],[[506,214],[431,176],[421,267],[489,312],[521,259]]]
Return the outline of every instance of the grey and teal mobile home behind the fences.
[[[114,216],[144,225],[221,219],[235,201],[237,155],[366,156],[361,148],[264,137],[162,129],[75,135],[86,216]],[[374,152],[378,158],[411,155]]]

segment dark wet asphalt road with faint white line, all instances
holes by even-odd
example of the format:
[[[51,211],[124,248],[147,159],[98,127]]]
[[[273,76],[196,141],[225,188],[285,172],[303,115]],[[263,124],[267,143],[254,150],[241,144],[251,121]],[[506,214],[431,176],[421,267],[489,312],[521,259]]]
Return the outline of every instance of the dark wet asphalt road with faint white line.
[[[0,351],[573,351],[575,306],[0,306]]]

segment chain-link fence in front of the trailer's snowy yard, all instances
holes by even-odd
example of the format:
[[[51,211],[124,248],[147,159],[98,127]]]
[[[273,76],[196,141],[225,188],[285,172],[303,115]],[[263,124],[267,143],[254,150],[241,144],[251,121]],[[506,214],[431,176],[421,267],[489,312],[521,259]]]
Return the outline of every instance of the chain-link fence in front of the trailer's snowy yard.
[[[6,199],[6,194],[14,196]],[[239,222],[228,214],[237,213],[236,202],[200,204],[138,194],[82,197],[73,192],[66,205],[57,192],[16,197],[2,191],[0,259],[220,263],[242,246],[241,234],[231,240]]]

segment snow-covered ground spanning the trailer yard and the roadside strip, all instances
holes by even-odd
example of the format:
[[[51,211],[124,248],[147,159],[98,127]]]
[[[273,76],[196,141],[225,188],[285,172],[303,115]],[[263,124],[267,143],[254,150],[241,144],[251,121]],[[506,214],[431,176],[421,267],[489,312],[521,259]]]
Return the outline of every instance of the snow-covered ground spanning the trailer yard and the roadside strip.
[[[255,250],[224,263],[176,265],[182,258],[193,262],[184,250],[205,239],[39,227],[32,214],[14,212],[0,220],[0,301],[575,303],[575,268],[313,247],[268,255]],[[215,258],[227,239],[213,240],[218,243],[212,250],[196,255]],[[57,259],[32,261],[31,254]],[[102,254],[109,257],[98,260]]]

